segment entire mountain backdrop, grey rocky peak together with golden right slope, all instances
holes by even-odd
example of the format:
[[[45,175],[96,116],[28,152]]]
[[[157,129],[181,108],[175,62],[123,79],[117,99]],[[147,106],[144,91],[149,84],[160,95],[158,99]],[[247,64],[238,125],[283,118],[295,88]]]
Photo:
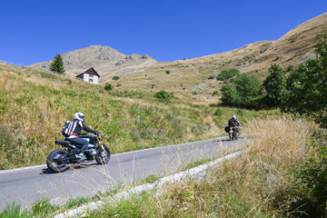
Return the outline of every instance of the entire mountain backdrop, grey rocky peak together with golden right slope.
[[[208,79],[210,76],[235,68],[241,74],[254,74],[263,81],[271,64],[286,69],[315,58],[314,45],[326,31],[327,13],[298,25],[276,41],[255,42],[198,58],[156,62],[147,54],[125,55],[110,47],[94,45],[63,54],[63,59],[66,71],[74,74],[93,66],[101,75],[100,82],[112,83],[118,91],[164,89],[189,97],[192,102],[214,104],[219,97],[213,97],[213,91],[219,91],[222,84]],[[34,66],[46,68],[50,62]],[[120,76],[120,80],[112,81],[114,75]]]

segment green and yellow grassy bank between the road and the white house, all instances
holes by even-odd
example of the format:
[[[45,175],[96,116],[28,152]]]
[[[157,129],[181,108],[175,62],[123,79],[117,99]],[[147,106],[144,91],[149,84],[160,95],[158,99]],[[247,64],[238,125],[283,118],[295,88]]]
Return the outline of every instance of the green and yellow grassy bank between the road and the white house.
[[[86,115],[85,124],[103,134],[113,153],[225,135],[221,125],[231,114],[244,122],[278,114],[236,108],[216,113],[215,107],[180,100],[167,104],[154,93],[106,92],[101,85],[0,64],[0,169],[45,163],[76,112]]]

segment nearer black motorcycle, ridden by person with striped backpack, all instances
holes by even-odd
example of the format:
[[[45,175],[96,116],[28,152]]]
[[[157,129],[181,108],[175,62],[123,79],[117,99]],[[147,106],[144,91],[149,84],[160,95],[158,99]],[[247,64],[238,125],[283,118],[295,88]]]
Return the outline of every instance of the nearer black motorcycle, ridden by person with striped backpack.
[[[101,135],[99,134],[82,134],[83,138],[89,142],[88,149],[84,152],[86,160],[77,157],[81,153],[82,144],[73,144],[68,140],[54,141],[54,144],[60,144],[64,149],[52,151],[47,159],[48,169],[54,173],[60,173],[67,170],[72,163],[90,162],[95,159],[99,164],[108,163],[110,159],[110,150],[107,146],[100,143]]]

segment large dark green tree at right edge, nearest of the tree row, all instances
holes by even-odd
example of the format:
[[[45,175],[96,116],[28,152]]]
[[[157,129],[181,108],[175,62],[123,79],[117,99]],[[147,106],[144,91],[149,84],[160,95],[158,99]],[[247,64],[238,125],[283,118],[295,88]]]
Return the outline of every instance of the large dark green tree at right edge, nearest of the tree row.
[[[287,78],[288,97],[283,110],[309,114],[327,128],[327,33],[317,47],[317,59],[300,64]]]

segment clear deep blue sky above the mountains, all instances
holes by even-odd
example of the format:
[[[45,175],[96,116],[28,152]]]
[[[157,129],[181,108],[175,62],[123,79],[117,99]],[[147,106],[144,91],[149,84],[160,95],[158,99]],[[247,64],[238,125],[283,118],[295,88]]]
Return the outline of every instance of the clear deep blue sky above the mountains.
[[[276,40],[326,0],[0,0],[0,60],[35,64],[90,45],[174,61]]]

